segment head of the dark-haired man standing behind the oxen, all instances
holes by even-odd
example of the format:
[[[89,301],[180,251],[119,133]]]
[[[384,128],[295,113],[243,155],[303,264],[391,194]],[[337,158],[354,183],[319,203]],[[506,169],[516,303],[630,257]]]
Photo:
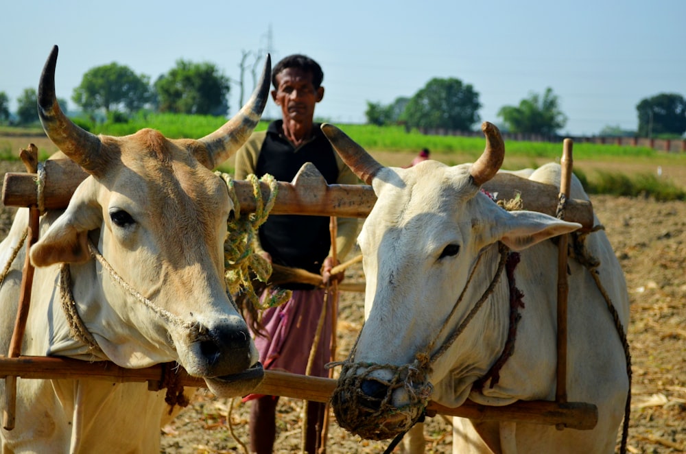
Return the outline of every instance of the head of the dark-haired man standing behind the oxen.
[[[314,106],[324,97],[323,79],[322,68],[307,56],[287,56],[276,64],[272,71],[272,98],[281,106],[284,121],[312,121]]]

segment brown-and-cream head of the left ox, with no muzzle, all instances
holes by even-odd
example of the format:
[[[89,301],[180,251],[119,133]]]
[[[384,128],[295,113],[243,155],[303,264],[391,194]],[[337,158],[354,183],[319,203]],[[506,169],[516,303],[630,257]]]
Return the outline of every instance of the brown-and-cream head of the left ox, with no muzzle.
[[[233,119],[202,139],[171,140],[149,129],[95,136],[72,123],[56,100],[57,53],[54,47],[40,79],[40,121],[90,176],[32,248],[32,262],[70,264],[81,318],[115,363],[138,368],[177,361],[215,394],[247,394],[263,370],[226,293],[223,251],[233,203],[211,169],[257,125],[270,59]],[[94,261],[89,248],[105,262]],[[237,376],[246,380],[235,382]]]

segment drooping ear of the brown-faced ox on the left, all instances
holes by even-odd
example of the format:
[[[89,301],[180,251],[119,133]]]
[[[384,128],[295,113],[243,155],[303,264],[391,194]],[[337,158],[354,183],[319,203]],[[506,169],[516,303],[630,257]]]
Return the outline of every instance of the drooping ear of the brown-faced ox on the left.
[[[67,210],[31,248],[36,267],[54,263],[83,263],[88,252],[88,230],[102,225],[102,214],[95,200],[93,178],[86,178],[71,197]]]

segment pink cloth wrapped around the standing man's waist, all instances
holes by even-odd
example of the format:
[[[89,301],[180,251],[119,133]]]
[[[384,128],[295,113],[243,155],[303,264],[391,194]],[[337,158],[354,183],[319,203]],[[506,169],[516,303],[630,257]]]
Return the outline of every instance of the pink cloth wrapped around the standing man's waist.
[[[263,292],[260,301],[268,296],[269,291],[267,289]],[[287,302],[265,310],[262,324],[267,337],[255,335],[255,346],[265,370],[305,374],[325,293],[324,289],[293,290],[292,297]],[[329,377],[329,370],[324,368],[324,364],[331,361],[331,301],[332,297],[329,296],[326,320],[310,372],[314,377]],[[243,401],[259,397],[259,394],[250,394]]]

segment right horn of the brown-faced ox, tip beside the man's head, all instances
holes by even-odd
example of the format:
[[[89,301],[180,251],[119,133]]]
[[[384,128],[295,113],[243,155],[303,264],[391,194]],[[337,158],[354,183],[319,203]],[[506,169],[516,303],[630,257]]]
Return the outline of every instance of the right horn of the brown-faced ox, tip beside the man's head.
[[[259,123],[262,111],[267,104],[271,73],[272,58],[267,54],[267,61],[265,61],[262,75],[246,105],[232,119],[227,121],[224,126],[204,136],[202,139],[198,139],[198,141],[205,145],[209,154],[208,160],[201,159],[200,162],[207,163],[206,166],[209,169],[213,169],[227,160],[250,137],[252,130]]]

